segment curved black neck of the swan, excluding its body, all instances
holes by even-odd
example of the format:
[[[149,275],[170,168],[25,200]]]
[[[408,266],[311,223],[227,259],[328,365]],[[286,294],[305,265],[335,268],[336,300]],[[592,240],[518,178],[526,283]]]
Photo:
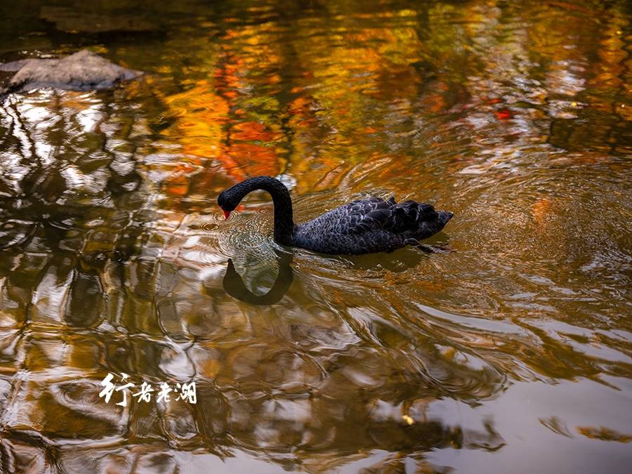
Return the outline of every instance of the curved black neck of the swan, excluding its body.
[[[289,245],[294,237],[294,220],[292,219],[292,199],[287,187],[281,181],[270,176],[257,176],[250,178],[230,188],[237,201],[241,201],[245,195],[254,190],[264,190],[272,196],[275,204],[275,241],[279,244]]]

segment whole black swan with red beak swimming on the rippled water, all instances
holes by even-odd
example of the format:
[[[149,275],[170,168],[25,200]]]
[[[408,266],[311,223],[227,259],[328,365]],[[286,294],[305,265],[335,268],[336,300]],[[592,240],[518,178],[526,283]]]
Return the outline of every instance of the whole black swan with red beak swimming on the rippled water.
[[[370,197],[336,207],[304,224],[292,220],[292,200],[287,187],[270,176],[249,178],[220,193],[217,202],[228,219],[245,195],[268,191],[275,204],[275,241],[322,254],[359,255],[393,251],[436,234],[452,212],[435,211],[430,204],[400,204]]]

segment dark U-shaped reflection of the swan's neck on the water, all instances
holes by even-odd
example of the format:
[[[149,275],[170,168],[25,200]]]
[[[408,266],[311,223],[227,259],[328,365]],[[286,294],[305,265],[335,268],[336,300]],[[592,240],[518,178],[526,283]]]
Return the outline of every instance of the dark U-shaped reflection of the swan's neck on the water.
[[[242,277],[239,276],[239,273],[235,270],[232,258],[228,259],[228,268],[226,269],[226,275],[224,275],[223,280],[223,286],[226,293],[233,298],[237,298],[239,301],[244,301],[253,305],[273,305],[281,301],[281,298],[285,296],[292,284],[292,280],[294,279],[294,274],[290,265],[292,258],[294,258],[294,254],[276,249],[275,254],[277,254],[277,260],[279,261],[279,274],[268,293],[257,295],[250,291],[244,284]]]

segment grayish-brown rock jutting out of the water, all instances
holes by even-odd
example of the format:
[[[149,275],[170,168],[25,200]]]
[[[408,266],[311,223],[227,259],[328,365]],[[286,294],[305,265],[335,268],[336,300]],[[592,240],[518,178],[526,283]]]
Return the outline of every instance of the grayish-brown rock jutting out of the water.
[[[0,65],[1,71],[16,71],[7,93],[50,87],[67,91],[91,91],[114,86],[120,81],[136,79],[143,72],[115,65],[91,51],[79,51],[60,59],[23,59]]]

